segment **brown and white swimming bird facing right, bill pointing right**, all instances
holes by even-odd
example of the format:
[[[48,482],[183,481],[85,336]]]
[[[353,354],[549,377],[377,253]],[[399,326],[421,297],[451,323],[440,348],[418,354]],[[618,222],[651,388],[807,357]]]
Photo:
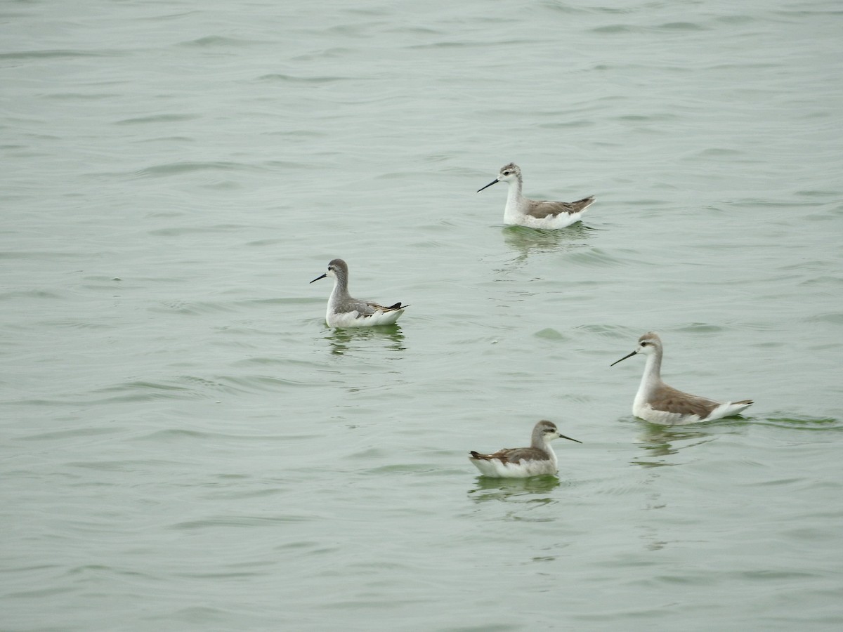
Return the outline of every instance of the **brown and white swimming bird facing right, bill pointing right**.
[[[530,447],[506,447],[494,454],[481,454],[472,450],[469,460],[484,476],[499,479],[523,479],[540,474],[556,474],[556,453],[550,447],[550,442],[559,437],[582,443],[561,435],[552,421],[541,420],[533,428]]]

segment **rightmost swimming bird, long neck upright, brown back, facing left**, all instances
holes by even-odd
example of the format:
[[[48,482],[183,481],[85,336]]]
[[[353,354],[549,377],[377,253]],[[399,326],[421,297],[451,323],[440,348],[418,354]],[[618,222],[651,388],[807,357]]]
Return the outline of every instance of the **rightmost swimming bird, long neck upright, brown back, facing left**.
[[[662,340],[657,334],[642,335],[638,339],[638,348],[628,356],[612,362],[615,364],[639,353],[647,356],[644,375],[632,402],[632,414],[653,424],[662,426],[684,426],[697,421],[711,421],[722,417],[738,415],[753,404],[752,399],[739,402],[716,402],[713,399],[698,397],[676,390],[662,382]]]

